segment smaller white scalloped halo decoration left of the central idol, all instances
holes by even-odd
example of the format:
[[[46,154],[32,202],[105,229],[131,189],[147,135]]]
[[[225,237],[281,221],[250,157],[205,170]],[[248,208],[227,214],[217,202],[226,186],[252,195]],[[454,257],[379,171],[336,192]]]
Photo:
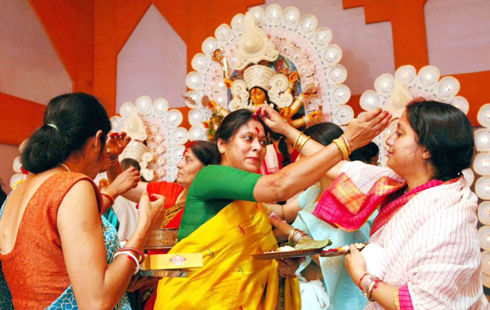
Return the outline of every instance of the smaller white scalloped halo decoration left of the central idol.
[[[131,141],[120,158],[126,155],[136,157],[134,159],[139,161],[141,174],[147,181],[173,182],[177,177],[176,165],[185,149],[183,144],[189,139],[188,131],[178,127],[183,120],[182,113],[176,109],[169,110],[169,103],[164,98],[152,101],[148,96],[141,96],[134,104],[124,103],[120,114],[111,118],[112,130],[118,132],[138,127],[141,131],[143,126],[147,142],[145,146],[138,139]],[[135,122],[135,115],[141,123]],[[128,122],[132,125],[127,125]],[[143,135],[140,133],[139,137]]]

